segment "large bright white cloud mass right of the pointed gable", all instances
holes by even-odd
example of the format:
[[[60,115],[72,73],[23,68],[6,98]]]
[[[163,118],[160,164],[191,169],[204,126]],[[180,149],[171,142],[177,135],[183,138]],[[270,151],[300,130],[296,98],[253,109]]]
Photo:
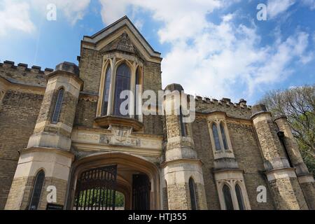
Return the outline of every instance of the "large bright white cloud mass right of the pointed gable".
[[[209,13],[226,8],[231,1],[100,2],[107,25],[132,7],[151,12],[154,20],[163,23],[158,30],[160,42],[172,46],[162,62],[164,87],[181,83],[190,94],[251,97],[260,87],[281,82],[293,73],[289,66],[295,59],[302,63],[311,60],[311,52],[307,51],[309,35],[304,32],[284,40],[278,33],[274,43],[261,46],[258,28],[253,24],[235,25],[236,14],[223,15],[219,25],[207,20]],[[292,4],[293,1],[274,1],[269,7],[276,16]],[[243,92],[235,90],[240,86]]]

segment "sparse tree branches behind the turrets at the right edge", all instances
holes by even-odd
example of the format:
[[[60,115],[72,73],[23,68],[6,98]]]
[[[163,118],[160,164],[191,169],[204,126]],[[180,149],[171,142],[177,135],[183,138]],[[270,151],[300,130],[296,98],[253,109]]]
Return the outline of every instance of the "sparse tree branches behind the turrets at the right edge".
[[[273,116],[286,116],[309,171],[315,174],[315,85],[272,90],[260,100]]]

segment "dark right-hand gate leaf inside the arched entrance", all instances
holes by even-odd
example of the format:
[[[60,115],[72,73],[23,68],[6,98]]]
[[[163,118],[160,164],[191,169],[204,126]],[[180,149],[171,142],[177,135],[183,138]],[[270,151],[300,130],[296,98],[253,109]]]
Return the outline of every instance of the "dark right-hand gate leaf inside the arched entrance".
[[[132,209],[150,209],[151,184],[145,174],[134,174],[132,176]]]

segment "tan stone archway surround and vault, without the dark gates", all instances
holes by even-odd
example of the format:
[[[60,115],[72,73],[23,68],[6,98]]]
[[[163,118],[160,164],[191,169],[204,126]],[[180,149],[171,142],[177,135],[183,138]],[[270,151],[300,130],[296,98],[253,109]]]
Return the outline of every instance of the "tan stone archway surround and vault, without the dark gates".
[[[158,167],[145,158],[120,152],[96,153],[73,162],[69,181],[66,209],[72,209],[76,193],[78,176],[88,169],[117,165],[116,190],[125,195],[125,209],[132,209],[132,178],[134,175],[146,175],[150,182],[148,200],[149,209],[160,209],[160,174]]]

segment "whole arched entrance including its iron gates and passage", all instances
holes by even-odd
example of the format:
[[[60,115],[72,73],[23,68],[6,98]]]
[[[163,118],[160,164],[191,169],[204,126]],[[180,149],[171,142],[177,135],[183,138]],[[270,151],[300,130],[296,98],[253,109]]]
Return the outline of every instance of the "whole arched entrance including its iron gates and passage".
[[[125,197],[124,209],[160,209],[158,167],[127,153],[97,153],[81,158],[71,167],[66,208],[115,209],[116,192]]]

